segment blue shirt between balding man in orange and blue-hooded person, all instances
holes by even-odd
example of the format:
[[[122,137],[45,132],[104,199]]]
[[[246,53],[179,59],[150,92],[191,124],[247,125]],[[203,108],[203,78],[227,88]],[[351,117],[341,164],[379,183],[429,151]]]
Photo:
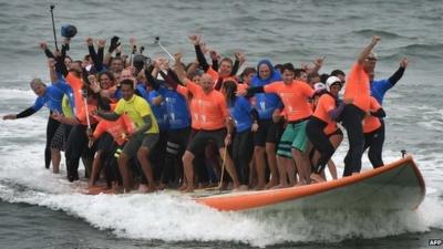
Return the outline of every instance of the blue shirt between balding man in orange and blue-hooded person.
[[[229,106],[229,113],[234,118],[237,133],[250,129],[253,126],[251,110],[253,106],[245,97],[236,97],[233,105]]]

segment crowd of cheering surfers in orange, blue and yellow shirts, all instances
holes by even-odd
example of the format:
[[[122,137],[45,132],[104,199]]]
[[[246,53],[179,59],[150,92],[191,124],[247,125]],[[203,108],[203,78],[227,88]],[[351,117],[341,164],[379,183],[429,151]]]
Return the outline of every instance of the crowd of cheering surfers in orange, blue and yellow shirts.
[[[343,176],[360,173],[368,148],[372,166],[383,166],[382,102],[408,60],[391,77],[374,80],[379,37],[348,76],[341,70],[320,74],[323,59],[300,68],[269,60],[244,66],[244,53],[233,61],[209,50],[202,37],[188,38],[196,52],[188,64],[182,53],[166,50],[169,59],[150,60],[134,39],[125,55],[117,37],[106,52],[105,40],[87,38],[89,54],[80,61],[66,54],[70,39],[54,52],[42,42],[51,83],[33,79],[34,104],[2,118],[28,117],[47,106],[45,167],[52,162],[59,173],[64,151],[70,181],[79,180],[82,158],[89,186],[103,177],[116,193],[284,188],[324,181],[326,166],[337,179],[331,157],[343,139],[340,127],[349,139]]]

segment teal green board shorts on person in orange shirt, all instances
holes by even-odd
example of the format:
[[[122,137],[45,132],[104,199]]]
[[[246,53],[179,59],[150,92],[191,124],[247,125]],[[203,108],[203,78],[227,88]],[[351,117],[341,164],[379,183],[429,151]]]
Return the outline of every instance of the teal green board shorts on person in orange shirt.
[[[277,155],[292,158],[291,148],[296,148],[305,153],[308,145],[308,136],[306,135],[306,125],[308,120],[296,124],[288,124],[281,135],[278,144]]]

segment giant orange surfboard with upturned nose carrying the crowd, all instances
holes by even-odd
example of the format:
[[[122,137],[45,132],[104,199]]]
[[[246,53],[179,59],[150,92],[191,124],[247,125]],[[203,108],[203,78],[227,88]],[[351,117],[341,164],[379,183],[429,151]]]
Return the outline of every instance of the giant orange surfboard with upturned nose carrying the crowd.
[[[415,209],[425,184],[412,156],[389,165],[320,184],[230,193],[194,200],[220,211],[253,209]]]

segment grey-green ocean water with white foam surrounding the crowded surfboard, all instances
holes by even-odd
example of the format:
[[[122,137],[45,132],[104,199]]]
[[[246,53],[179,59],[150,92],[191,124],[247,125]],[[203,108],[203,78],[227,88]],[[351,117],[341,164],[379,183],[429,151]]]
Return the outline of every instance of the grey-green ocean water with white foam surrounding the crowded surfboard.
[[[32,77],[49,80],[38,42],[52,45],[51,3],[0,0],[0,115],[33,103]],[[223,55],[244,51],[247,65],[264,58],[297,65],[326,56],[321,72],[348,72],[361,48],[380,35],[377,79],[389,77],[403,56],[410,60],[383,103],[384,160],[395,160],[401,149],[412,154],[426,198],[414,212],[306,216],[218,212],[162,193],[85,196],[85,183],[68,183],[64,168],[61,175],[44,169],[42,110],[0,121],[0,248],[426,248],[429,239],[443,239],[443,2],[62,0],[54,18],[58,28],[76,25],[70,51],[76,60],[87,52],[85,37],[116,34],[126,43],[137,38],[153,58],[165,56],[154,44],[159,37],[190,61],[186,35],[199,33]],[[347,146],[333,157],[339,172]]]

